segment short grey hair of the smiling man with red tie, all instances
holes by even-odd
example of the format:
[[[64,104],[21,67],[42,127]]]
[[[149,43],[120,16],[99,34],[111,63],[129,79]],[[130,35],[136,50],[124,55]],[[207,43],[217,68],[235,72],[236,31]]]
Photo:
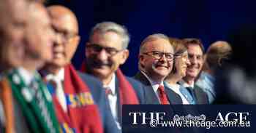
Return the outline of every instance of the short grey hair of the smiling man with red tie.
[[[163,33],[154,33],[152,35],[149,35],[146,37],[146,39],[144,39],[142,41],[142,43],[140,44],[140,54],[142,54],[144,51],[145,51],[145,47],[144,45],[149,42],[149,41],[155,41],[157,39],[165,39],[167,41],[169,41],[169,37],[166,36],[165,34]]]

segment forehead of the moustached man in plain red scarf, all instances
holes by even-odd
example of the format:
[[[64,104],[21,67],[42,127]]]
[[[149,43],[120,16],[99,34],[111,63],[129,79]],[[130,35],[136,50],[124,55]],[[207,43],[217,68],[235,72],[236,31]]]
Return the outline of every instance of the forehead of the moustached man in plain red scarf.
[[[108,31],[106,33],[94,32],[91,36],[92,44],[99,44],[103,47],[113,47],[116,49],[121,49],[122,38],[120,35],[113,31]]]

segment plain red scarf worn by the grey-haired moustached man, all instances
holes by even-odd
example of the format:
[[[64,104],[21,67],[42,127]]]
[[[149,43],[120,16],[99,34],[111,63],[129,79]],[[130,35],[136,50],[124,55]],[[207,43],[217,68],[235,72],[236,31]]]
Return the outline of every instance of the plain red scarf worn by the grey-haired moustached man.
[[[86,73],[86,63],[83,63],[80,70]],[[132,85],[125,78],[120,69],[116,70],[116,76],[119,83],[119,94],[121,105],[138,105],[138,97],[133,89]]]

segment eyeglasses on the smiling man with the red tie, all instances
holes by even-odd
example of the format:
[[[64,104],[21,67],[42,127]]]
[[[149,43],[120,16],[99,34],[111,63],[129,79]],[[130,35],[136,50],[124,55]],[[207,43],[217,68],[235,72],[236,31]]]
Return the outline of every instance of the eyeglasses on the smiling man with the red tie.
[[[151,57],[154,57],[157,60],[161,59],[164,55],[167,60],[173,60],[174,58],[174,55],[170,52],[151,51],[151,52],[144,52],[143,55],[149,55]]]

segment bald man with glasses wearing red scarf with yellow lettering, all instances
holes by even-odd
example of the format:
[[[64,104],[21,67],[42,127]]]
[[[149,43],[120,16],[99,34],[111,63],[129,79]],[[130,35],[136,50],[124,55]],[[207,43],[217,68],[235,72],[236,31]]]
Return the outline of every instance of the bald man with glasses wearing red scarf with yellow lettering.
[[[77,73],[70,63],[80,41],[74,13],[61,6],[48,7],[48,12],[57,41],[53,45],[53,60],[42,69],[42,75],[48,82],[61,129],[120,132],[105,102],[102,85],[91,76]]]

